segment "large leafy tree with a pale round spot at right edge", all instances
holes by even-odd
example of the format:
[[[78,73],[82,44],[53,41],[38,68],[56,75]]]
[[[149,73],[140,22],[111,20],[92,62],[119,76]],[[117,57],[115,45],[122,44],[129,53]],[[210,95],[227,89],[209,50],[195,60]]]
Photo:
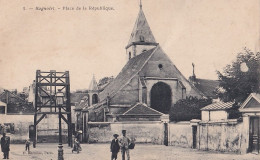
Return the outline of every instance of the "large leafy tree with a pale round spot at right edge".
[[[259,92],[260,54],[245,48],[236,60],[227,65],[223,73],[217,71],[220,80],[218,97],[224,101],[242,103],[250,93]]]

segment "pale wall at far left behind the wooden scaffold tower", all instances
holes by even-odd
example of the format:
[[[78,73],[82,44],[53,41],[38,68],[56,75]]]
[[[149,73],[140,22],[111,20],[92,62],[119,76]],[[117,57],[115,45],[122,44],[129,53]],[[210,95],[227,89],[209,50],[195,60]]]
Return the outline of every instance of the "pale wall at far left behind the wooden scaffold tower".
[[[29,138],[29,126],[34,124],[33,114],[1,114],[0,124],[12,124],[13,129],[5,129],[11,143],[25,143]],[[58,117],[57,115],[48,115],[48,118],[42,119],[37,125],[38,142],[58,142]],[[6,128],[6,127],[5,127]],[[1,135],[3,130],[1,131]],[[68,129],[67,124],[62,120],[63,142],[67,142]]]

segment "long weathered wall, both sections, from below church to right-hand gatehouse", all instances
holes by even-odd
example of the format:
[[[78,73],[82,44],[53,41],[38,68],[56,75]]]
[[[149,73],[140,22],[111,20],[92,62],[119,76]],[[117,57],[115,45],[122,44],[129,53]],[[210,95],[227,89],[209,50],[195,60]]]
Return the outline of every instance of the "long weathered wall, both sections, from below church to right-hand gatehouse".
[[[168,123],[168,144],[244,154],[248,148],[248,131],[244,129],[244,123],[237,120]],[[193,135],[193,126],[196,135]],[[136,140],[136,143],[164,144],[164,123],[159,121],[89,122],[88,142],[108,143],[112,140],[113,134],[121,136],[123,129],[127,130],[127,136]],[[194,139],[196,139],[195,146],[193,146]]]

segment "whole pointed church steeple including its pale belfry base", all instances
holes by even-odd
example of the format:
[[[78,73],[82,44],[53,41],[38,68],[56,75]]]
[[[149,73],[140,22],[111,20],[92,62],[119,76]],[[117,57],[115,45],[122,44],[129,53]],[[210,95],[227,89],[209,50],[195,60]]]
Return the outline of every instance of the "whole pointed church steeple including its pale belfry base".
[[[158,45],[145,18],[141,0],[139,6],[140,10],[134,29],[126,46],[127,57],[129,59]]]

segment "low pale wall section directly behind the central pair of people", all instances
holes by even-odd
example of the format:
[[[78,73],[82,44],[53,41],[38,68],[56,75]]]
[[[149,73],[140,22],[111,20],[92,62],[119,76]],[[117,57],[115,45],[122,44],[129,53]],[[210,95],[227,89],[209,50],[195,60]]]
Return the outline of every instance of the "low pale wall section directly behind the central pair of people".
[[[127,136],[136,143],[163,144],[164,124],[162,122],[89,122],[88,142],[110,142],[113,134],[119,134],[121,137],[122,130],[126,130]]]

